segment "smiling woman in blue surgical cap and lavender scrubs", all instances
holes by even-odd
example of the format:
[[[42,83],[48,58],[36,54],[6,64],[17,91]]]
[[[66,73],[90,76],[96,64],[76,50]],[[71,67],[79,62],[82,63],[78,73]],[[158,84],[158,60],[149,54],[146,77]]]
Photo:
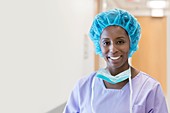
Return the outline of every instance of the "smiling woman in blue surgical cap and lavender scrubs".
[[[63,113],[168,113],[160,83],[128,62],[141,36],[136,18],[123,9],[99,13],[89,34],[107,66],[77,82]]]

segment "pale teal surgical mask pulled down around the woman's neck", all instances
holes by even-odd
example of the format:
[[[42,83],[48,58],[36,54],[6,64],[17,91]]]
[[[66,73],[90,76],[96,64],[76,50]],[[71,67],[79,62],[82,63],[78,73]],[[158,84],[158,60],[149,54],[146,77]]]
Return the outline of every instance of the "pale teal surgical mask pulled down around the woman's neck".
[[[122,82],[122,81],[128,79],[130,75],[131,75],[130,68],[117,74],[116,76],[112,76],[110,74],[110,72],[104,68],[99,69],[96,73],[96,77],[101,78],[102,80],[105,80],[111,84],[116,84],[116,83]]]

